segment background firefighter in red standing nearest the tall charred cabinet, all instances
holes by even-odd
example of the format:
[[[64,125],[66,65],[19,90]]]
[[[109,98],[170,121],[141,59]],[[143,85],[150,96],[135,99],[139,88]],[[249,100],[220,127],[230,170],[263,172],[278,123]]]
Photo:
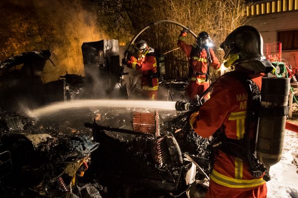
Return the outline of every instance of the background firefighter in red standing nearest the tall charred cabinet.
[[[122,64],[142,72],[142,95],[146,99],[154,100],[158,91],[157,59],[154,49],[145,41],[139,41],[135,44],[134,53],[136,57],[123,59]]]

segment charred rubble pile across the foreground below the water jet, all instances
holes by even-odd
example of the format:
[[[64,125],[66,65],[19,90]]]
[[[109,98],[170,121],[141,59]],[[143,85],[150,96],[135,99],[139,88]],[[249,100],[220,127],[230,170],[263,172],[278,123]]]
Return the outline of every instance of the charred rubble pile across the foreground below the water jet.
[[[191,131],[185,119],[157,114],[158,136],[152,132],[129,134],[136,132],[132,123],[136,113],[110,112],[96,111],[94,120],[123,131],[103,130],[95,122],[90,125],[92,132],[87,128],[83,132],[66,130],[53,123],[41,126],[31,117],[1,114],[0,153],[10,154],[9,166],[4,171],[8,174],[0,175],[1,195],[171,197],[188,189],[185,177],[192,163],[183,157],[185,153],[209,173],[210,141]],[[0,169],[3,167],[0,165]],[[204,174],[198,171],[196,179],[204,179]],[[206,186],[196,184],[206,190]]]

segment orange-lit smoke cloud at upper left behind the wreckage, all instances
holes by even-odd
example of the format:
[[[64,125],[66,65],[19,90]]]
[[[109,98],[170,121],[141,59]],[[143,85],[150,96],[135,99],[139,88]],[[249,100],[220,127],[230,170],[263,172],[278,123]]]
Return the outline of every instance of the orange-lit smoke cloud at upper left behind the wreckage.
[[[100,31],[96,9],[86,0],[4,0],[0,15],[1,59],[33,49],[54,51],[44,69],[45,82],[59,76],[84,75],[81,45],[107,37]],[[6,30],[4,29],[6,26]]]

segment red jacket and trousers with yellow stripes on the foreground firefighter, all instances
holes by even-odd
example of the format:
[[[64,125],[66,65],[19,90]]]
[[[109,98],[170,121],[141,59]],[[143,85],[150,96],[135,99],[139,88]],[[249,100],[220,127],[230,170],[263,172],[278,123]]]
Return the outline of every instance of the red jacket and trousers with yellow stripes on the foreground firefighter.
[[[250,77],[261,88],[263,74]],[[190,116],[190,124],[204,138],[213,135],[224,125],[224,133],[228,138],[242,139],[246,105],[247,92],[242,83],[231,76],[223,76],[216,83],[211,98],[202,105],[199,112]],[[252,177],[245,161],[221,150],[216,155],[210,178],[209,197],[263,198],[267,194],[263,177]]]

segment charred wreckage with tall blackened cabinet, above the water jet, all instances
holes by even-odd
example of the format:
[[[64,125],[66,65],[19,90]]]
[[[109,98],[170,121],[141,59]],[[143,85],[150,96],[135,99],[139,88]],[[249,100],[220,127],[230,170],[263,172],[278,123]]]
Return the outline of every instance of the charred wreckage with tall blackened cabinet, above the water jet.
[[[74,99],[124,98],[118,40],[101,40],[81,46],[85,76],[66,74],[44,82],[46,62],[52,52],[33,50],[0,62],[0,108],[24,112],[42,105]],[[57,65],[58,67],[58,65]]]

